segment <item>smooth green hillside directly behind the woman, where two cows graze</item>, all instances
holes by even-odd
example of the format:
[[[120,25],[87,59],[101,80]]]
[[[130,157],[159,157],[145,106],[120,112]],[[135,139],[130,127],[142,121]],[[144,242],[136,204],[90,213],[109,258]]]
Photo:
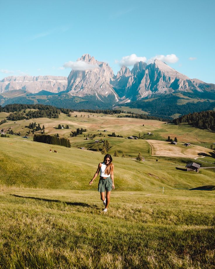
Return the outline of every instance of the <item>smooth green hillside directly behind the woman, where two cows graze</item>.
[[[127,139],[122,141],[125,140]],[[137,142],[142,141],[144,142],[144,140]],[[136,140],[131,140],[131,149],[135,142]],[[149,149],[146,143],[145,151]],[[123,144],[121,146],[123,147]],[[50,153],[50,149],[55,149],[58,153]],[[115,149],[117,146],[113,144],[110,150],[112,155]],[[191,189],[214,184],[215,169],[213,168],[200,169],[199,173],[187,172],[184,159],[157,158],[158,161],[156,161],[156,158],[151,158],[149,154],[147,156],[145,153],[143,156],[145,156],[145,161],[140,163],[135,158],[113,157],[116,189],[149,190],[163,186],[170,189]],[[17,136],[1,137],[0,184],[50,189],[96,190],[97,183],[91,187],[88,183],[96,172],[98,163],[103,161],[103,157],[100,152],[77,149],[73,146],[65,148],[33,142]]]

